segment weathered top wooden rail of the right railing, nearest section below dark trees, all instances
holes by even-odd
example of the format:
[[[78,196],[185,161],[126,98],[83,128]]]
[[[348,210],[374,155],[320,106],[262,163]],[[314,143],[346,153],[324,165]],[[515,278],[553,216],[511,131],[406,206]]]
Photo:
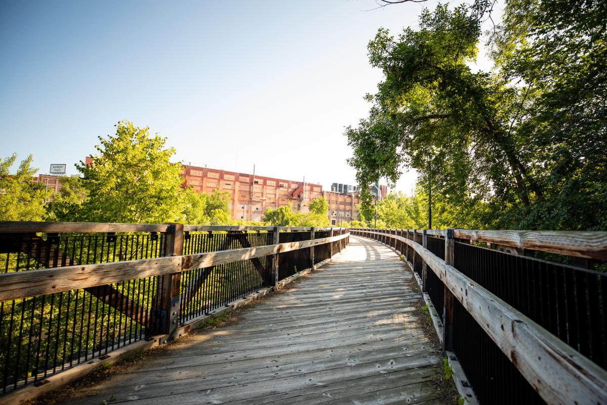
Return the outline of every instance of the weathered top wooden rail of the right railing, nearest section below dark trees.
[[[455,237],[567,256],[607,260],[607,232],[455,230]]]

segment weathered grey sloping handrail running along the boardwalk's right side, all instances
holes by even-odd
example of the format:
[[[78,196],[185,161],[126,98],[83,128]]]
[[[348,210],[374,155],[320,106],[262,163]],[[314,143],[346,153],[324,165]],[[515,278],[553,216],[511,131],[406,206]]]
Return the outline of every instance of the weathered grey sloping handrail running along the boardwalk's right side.
[[[607,371],[557,336],[419,243],[393,234],[360,231],[412,247],[547,403],[607,403]]]

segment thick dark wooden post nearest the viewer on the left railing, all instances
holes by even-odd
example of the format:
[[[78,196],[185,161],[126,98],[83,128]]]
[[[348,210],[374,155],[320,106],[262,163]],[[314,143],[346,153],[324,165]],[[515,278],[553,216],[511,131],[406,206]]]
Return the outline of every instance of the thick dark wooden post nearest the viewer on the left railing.
[[[183,223],[171,223],[164,237],[164,256],[183,254]],[[169,273],[162,276],[160,296],[161,330],[168,335],[167,340],[177,337],[179,328],[181,273]]]

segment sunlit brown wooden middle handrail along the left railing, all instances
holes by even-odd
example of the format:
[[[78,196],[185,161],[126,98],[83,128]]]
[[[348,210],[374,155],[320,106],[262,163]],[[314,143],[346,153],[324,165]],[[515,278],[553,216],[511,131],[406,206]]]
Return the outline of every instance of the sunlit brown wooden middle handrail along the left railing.
[[[0,301],[59,293],[78,288],[95,287],[97,285],[112,284],[131,279],[159,276],[161,274],[178,273],[192,268],[211,267],[336,242],[349,235],[349,233],[345,233],[322,239],[183,256],[3,273],[0,274],[0,285],[2,285],[2,288],[0,288]]]

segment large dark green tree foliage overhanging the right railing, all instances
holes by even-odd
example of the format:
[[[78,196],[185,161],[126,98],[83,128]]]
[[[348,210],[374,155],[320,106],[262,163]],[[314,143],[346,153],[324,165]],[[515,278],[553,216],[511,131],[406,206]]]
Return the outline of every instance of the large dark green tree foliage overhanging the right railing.
[[[346,131],[361,189],[413,166],[449,226],[606,229],[602,3],[507,2],[491,72],[469,63],[492,2],[424,10],[398,38],[380,29],[368,50],[384,81]]]

